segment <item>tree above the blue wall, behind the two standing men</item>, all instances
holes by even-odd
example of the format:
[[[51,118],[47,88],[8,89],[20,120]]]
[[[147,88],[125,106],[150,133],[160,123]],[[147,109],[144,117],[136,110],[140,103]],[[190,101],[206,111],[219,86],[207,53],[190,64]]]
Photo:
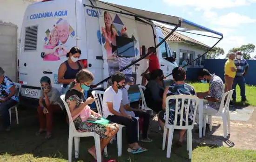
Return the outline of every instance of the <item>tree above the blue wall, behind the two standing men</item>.
[[[232,48],[231,50],[229,50],[229,53],[230,52],[236,53],[237,51],[241,51],[244,59],[251,59],[250,53],[254,52],[254,50],[255,50],[254,44],[243,44],[239,48]],[[228,57],[228,54],[226,55],[226,57]]]

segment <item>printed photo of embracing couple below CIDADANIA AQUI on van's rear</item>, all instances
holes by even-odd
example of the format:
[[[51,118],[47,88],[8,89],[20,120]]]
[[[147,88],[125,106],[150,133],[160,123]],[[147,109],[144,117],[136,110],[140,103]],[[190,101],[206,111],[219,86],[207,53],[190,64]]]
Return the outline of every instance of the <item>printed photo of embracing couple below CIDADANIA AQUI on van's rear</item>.
[[[44,37],[43,51],[41,57],[44,61],[59,61],[66,59],[67,52],[71,48],[69,42],[74,41],[74,29],[64,19],[59,19],[52,28],[47,29]]]

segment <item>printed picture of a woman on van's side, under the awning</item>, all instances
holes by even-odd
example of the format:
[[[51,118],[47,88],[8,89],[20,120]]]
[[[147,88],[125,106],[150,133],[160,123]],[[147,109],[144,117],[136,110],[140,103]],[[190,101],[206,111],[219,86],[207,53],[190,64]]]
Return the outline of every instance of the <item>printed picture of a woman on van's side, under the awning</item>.
[[[108,74],[112,75],[128,66],[139,56],[138,36],[134,28],[127,28],[125,21],[128,18],[108,11],[100,13],[102,13],[99,16],[102,52],[106,58],[104,61],[108,64]],[[133,66],[122,73],[136,80]]]

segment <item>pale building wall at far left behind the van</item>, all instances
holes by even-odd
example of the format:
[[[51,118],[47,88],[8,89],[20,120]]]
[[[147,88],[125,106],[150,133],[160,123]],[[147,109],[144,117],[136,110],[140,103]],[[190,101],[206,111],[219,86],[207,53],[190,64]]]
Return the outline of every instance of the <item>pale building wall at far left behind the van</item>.
[[[18,38],[27,6],[38,0],[0,0],[0,67],[17,81]]]

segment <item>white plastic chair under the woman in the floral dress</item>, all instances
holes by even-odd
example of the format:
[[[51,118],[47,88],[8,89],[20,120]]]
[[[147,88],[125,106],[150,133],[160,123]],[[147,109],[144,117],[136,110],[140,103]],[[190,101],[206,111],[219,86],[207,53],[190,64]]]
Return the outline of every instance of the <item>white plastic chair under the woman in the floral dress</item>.
[[[101,143],[100,136],[94,132],[79,132],[75,129],[71,113],[67,102],[65,101],[65,94],[61,95],[61,100],[65,105],[67,116],[69,120],[69,135],[68,135],[68,162],[72,161],[73,138],[74,138],[74,153],[75,158],[79,158],[80,137],[94,137],[97,162],[101,162]],[[108,156],[107,146],[104,149],[105,155]]]

